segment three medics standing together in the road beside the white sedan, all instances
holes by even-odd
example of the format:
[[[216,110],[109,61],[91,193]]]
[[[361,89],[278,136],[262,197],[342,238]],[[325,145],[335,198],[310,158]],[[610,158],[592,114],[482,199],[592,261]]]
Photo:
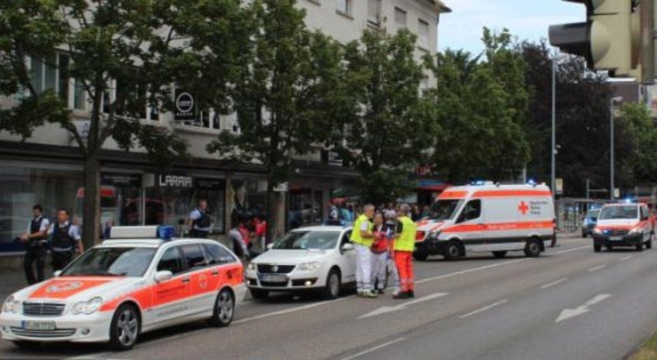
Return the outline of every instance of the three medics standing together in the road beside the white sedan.
[[[413,298],[413,248],[415,222],[411,207],[402,204],[391,218],[390,211],[376,212],[374,205],[365,205],[363,214],[354,222],[351,242],[357,257],[356,282],[358,296],[376,298],[387,285],[388,259],[394,259],[392,274],[394,298]]]

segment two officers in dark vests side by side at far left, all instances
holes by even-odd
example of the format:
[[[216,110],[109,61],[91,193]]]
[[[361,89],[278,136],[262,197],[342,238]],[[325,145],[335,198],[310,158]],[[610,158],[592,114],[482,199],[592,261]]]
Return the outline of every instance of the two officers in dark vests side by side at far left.
[[[32,220],[27,225],[27,231],[18,238],[18,241],[26,247],[23,270],[29,285],[45,279],[48,250],[50,250],[53,272],[66,268],[73,260],[76,251],[83,252],[79,227],[69,218],[68,209],[57,209],[57,220],[51,224],[43,215],[41,205],[32,207]]]

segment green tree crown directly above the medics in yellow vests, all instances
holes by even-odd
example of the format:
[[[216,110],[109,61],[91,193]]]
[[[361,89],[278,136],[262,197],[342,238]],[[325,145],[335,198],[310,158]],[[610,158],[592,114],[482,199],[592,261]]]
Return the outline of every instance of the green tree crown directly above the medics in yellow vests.
[[[365,201],[403,194],[408,181],[400,177],[417,164],[437,131],[433,107],[420,91],[425,75],[415,60],[415,40],[405,29],[392,36],[365,31],[346,49],[348,92],[355,103],[342,117],[346,131],[338,148],[360,172]]]

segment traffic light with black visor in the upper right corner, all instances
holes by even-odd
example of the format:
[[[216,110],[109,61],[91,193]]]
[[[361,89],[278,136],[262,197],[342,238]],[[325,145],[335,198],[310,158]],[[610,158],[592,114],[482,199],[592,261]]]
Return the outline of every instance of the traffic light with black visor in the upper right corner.
[[[565,0],[587,7],[587,21],[550,26],[550,44],[586,58],[589,68],[630,75],[639,65],[639,0]]]

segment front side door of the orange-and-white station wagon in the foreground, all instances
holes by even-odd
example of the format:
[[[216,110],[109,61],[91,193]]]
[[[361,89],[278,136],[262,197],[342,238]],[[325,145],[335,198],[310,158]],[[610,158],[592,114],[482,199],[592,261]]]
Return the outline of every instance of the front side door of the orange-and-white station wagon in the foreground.
[[[164,250],[157,262],[157,271],[168,270],[171,279],[153,285],[151,323],[158,324],[178,318],[185,313],[185,301],[190,296],[190,275],[185,272],[183,254],[179,246]]]

